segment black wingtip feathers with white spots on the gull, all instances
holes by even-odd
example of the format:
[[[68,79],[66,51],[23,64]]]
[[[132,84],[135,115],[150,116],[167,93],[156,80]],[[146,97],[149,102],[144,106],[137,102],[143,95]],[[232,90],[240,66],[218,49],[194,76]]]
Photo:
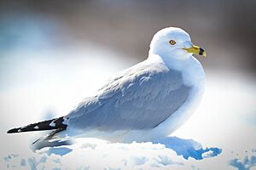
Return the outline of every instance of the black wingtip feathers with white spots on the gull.
[[[42,131],[42,130],[58,130],[58,132],[60,132],[67,128],[67,125],[63,123],[64,120],[65,118],[62,116],[62,117],[44,121],[44,122],[32,123],[25,127],[12,128],[7,133],[24,133],[24,132]]]

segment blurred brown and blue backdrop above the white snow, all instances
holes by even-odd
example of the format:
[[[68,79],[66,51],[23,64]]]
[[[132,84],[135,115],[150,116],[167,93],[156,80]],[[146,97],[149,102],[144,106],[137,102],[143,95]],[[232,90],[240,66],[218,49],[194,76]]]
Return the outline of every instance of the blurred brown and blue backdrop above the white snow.
[[[44,51],[91,42],[141,61],[156,31],[177,26],[207,49],[206,68],[253,74],[255,6],[239,0],[1,1],[1,57],[20,45]]]

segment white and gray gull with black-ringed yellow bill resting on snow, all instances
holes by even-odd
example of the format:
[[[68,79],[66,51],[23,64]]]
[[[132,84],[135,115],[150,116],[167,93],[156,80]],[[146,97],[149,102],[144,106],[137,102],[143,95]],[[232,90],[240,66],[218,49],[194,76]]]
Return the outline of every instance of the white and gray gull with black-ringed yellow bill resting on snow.
[[[193,54],[206,56],[186,31],[162,29],[154,35],[147,59],[114,75],[67,116],[13,128],[8,133],[51,130],[33,144],[66,138],[113,142],[165,138],[200,104],[205,72]]]

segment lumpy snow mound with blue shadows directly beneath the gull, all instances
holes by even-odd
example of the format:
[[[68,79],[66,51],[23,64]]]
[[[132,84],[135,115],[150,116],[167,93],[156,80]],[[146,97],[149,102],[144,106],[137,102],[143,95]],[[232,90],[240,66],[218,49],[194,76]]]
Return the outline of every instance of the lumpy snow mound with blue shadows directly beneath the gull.
[[[0,163],[1,169],[183,169],[189,157],[200,160],[220,152],[218,148],[203,149],[194,140],[177,137],[131,144],[76,139],[75,144],[44,148],[30,156],[10,154]]]

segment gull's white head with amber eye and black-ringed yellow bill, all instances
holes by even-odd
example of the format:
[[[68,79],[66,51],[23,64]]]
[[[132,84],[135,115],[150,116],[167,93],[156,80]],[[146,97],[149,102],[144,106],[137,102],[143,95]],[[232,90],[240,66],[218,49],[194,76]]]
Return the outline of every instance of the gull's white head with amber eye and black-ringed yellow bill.
[[[207,56],[205,50],[191,42],[186,31],[176,27],[162,29],[154,35],[150,43],[150,54],[174,59],[188,59],[192,54]]]

